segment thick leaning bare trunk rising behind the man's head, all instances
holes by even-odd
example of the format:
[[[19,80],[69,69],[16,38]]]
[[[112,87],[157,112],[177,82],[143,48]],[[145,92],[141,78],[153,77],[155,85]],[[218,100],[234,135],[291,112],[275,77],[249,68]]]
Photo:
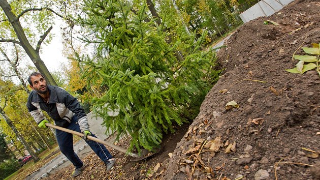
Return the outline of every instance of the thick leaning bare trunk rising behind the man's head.
[[[57,85],[57,83],[54,81],[53,77],[51,76],[49,70],[47,69],[44,62],[41,60],[39,52],[37,52],[29,43],[28,39],[26,38],[23,28],[20,24],[19,19],[12,13],[12,9],[9,5],[9,3],[6,0],[0,0],[0,6],[2,7],[3,11],[5,12],[6,16],[9,19],[9,22],[11,23],[19,42],[22,46],[22,48],[25,50],[25,52],[30,57],[31,61],[35,64],[37,69],[41,74],[43,74],[46,78],[46,81],[51,85]]]

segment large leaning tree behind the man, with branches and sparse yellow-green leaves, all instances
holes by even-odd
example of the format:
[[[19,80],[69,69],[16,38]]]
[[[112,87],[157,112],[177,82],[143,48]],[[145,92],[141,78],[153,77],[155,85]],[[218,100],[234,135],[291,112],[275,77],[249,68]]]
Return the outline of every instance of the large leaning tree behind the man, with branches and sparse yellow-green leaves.
[[[0,21],[0,42],[21,46],[51,85],[57,84],[42,61],[39,52],[41,45],[46,43],[46,38],[47,41],[51,39],[49,33],[54,23],[53,15],[66,19],[50,8],[54,3],[55,1],[25,2],[17,0],[11,1],[9,4],[6,0],[0,1],[0,7],[3,10],[0,13],[4,18]],[[57,4],[55,5],[57,6]],[[63,8],[60,9],[63,10]],[[26,24],[26,27],[23,27],[23,24]],[[31,26],[32,24],[34,26]]]

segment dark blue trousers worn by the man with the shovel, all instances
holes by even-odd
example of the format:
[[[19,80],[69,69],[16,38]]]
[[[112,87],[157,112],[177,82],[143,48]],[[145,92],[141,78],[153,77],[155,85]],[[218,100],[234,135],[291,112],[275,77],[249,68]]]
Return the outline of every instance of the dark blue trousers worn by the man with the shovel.
[[[81,133],[79,124],[78,124],[78,118],[76,115],[72,117],[72,121],[70,125],[67,127],[70,130],[77,131]],[[97,137],[94,134],[91,133],[91,136]],[[65,155],[69,161],[72,162],[72,164],[77,168],[80,168],[83,166],[83,162],[80,160],[78,155],[75,153],[73,149],[73,136],[70,133],[60,131],[60,130],[55,130],[56,138],[58,141],[58,145],[60,148],[60,151],[63,155]],[[92,140],[86,140],[86,143],[89,144],[91,149],[94,151],[95,154],[98,155],[98,157],[103,161],[103,162],[108,162],[109,159],[113,158],[112,155],[109,153],[107,148],[98,142],[92,141]]]

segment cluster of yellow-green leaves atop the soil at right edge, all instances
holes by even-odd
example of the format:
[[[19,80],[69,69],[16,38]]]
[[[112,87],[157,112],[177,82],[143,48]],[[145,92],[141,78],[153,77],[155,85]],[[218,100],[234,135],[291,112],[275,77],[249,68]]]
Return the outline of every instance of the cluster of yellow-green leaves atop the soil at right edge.
[[[320,76],[320,44],[312,43],[312,47],[303,47],[303,51],[311,55],[294,55],[295,59],[298,59],[299,62],[296,64],[296,67],[293,69],[286,69],[285,71],[290,73],[300,73],[303,74],[307,71],[315,70]]]

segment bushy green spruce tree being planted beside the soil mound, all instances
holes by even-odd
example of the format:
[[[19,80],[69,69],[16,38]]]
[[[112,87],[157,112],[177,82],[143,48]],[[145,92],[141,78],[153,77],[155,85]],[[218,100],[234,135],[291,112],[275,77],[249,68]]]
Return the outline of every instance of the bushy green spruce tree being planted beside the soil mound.
[[[195,42],[184,32],[164,32],[155,19],[145,21],[150,18],[145,4],[90,1],[83,10],[80,22],[89,30],[83,39],[97,45],[96,56],[82,57],[87,63],[84,77],[105,89],[92,100],[94,110],[118,138],[132,136],[130,151],[152,150],[164,133],[197,116],[217,78],[218,72],[212,70],[215,51],[200,50],[207,34],[204,31]],[[175,57],[177,50],[183,61]]]

